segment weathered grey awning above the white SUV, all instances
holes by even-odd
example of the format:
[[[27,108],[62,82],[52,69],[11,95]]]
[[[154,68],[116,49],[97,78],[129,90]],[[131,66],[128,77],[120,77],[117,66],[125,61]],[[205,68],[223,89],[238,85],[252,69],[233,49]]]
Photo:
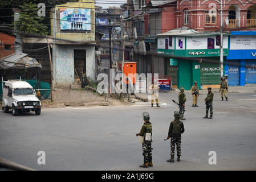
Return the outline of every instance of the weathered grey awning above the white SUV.
[[[5,57],[0,60],[1,69],[27,69],[41,68],[42,65],[35,58],[27,56],[26,53],[16,52],[14,55]]]

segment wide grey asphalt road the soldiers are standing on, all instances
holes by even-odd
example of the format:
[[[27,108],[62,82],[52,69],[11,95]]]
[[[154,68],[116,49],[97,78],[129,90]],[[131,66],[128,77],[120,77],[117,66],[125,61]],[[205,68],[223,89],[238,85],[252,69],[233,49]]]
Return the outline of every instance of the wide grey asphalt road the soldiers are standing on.
[[[159,108],[150,103],[128,106],[42,109],[14,117],[0,111],[0,158],[38,170],[140,170],[143,156],[138,133],[142,113],[148,111],[153,127],[153,164],[147,170],[255,170],[256,92],[229,93],[221,101],[215,93],[213,119],[203,119],[205,96],[192,107],[186,93],[185,133],[181,162],[167,163],[167,137],[173,111],[171,100],[178,92],[160,93]],[[39,165],[38,151],[46,154]],[[216,151],[217,164],[210,165],[209,151]]]

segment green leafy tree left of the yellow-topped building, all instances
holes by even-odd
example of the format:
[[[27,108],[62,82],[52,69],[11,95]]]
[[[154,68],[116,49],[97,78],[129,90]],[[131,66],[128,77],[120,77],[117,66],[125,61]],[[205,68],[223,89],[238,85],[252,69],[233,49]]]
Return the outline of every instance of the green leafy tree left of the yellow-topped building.
[[[47,35],[47,26],[43,24],[43,18],[37,15],[38,7],[36,4],[24,3],[20,6],[21,13],[19,19],[14,22],[18,30],[27,34]]]

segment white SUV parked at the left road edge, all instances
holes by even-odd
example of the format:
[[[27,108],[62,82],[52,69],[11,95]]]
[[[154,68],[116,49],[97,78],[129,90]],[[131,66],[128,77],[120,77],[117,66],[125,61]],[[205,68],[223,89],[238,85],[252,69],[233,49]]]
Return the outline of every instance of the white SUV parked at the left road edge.
[[[40,115],[41,103],[36,97],[35,90],[28,82],[8,80],[5,81],[3,88],[2,109],[5,113],[11,109],[13,115],[18,115],[22,111],[35,111],[36,115]]]

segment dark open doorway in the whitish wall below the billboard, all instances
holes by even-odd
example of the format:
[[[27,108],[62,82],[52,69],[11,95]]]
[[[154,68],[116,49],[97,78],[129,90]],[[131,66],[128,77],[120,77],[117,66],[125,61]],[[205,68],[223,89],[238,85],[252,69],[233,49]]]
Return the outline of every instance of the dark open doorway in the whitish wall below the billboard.
[[[74,50],[74,69],[75,78],[81,78],[86,75],[86,49]]]

